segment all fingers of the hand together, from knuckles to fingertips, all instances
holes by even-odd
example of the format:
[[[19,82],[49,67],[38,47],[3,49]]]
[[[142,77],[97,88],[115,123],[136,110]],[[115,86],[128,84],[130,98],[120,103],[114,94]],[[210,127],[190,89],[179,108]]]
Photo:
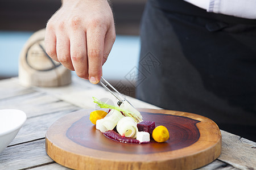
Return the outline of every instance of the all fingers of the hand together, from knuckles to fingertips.
[[[89,28],[86,32],[73,29],[69,34],[58,31],[56,36],[51,29],[47,31],[46,51],[52,59],[61,62],[69,70],[75,70],[79,77],[89,79],[94,84],[100,81],[102,65],[115,41],[114,28],[106,33],[101,27]]]

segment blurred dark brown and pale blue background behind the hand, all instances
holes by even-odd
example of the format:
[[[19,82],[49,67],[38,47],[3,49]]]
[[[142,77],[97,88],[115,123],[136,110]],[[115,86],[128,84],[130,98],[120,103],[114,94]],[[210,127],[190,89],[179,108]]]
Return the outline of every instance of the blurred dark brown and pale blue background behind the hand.
[[[146,0],[112,0],[117,38],[103,67],[112,83],[122,80],[138,66],[139,24]],[[45,28],[61,0],[0,1],[0,79],[18,76],[19,53],[28,38]],[[134,94],[130,94],[133,96]]]

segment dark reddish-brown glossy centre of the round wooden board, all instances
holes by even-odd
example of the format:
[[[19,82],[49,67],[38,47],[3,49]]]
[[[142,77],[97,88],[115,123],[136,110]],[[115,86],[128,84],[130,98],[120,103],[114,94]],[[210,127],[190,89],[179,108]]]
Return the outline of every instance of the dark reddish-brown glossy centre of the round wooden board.
[[[147,145],[116,142],[105,137],[100,130],[96,130],[89,120],[89,115],[73,123],[67,130],[66,136],[84,147],[123,154],[153,154],[179,150],[191,146],[200,138],[199,129],[196,126],[200,121],[171,114],[141,113],[144,121],[155,121],[156,126],[166,126],[170,139],[163,143],[151,140]]]

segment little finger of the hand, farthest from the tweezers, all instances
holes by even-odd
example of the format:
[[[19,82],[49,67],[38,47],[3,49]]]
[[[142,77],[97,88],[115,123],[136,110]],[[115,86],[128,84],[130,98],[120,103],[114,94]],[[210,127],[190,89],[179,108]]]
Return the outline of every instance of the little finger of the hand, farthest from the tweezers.
[[[46,46],[46,53],[55,61],[59,62],[56,53],[56,36],[53,28],[47,24],[46,36],[44,37],[44,44]]]

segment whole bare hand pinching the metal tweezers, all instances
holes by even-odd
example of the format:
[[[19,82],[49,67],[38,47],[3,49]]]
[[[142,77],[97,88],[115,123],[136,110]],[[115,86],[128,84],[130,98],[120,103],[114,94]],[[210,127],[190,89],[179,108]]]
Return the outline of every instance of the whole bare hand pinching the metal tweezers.
[[[46,27],[47,54],[91,83],[100,82],[102,65],[115,41],[107,0],[63,0]]]

